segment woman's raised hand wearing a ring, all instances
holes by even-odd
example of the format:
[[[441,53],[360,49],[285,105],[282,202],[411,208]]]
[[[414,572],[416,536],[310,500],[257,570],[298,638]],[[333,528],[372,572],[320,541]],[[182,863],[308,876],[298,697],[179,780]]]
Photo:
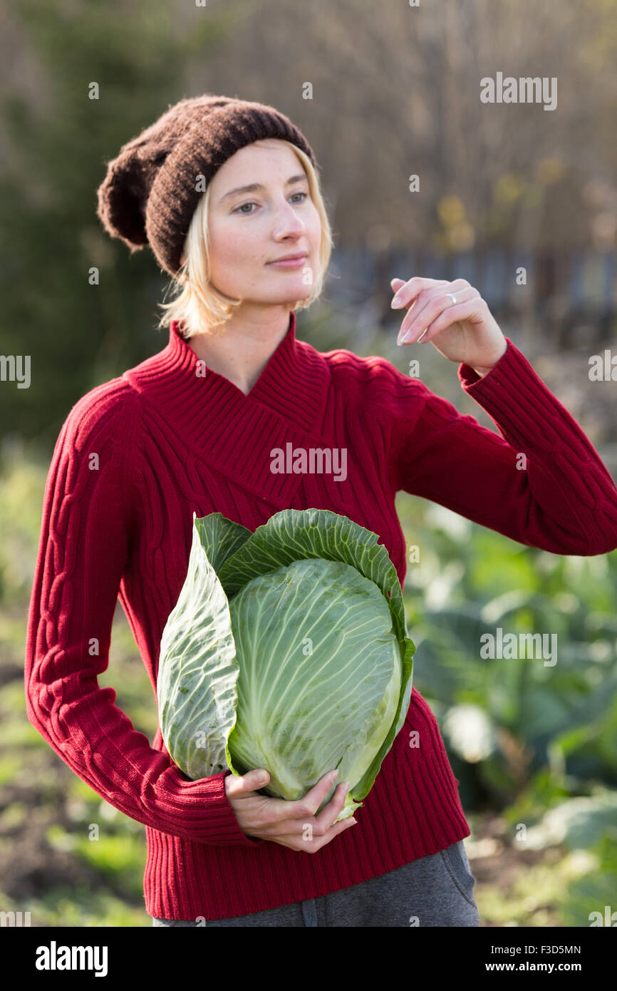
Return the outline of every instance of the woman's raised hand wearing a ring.
[[[477,289],[464,278],[449,282],[443,278],[414,276],[407,282],[393,278],[390,282],[406,314],[397,344],[424,344],[431,341],[440,354],[451,362],[474,369],[478,375],[496,365],[508,342],[492,317]],[[449,293],[456,297],[456,302]],[[425,333],[423,333],[423,331]],[[409,332],[406,341],[402,338]]]

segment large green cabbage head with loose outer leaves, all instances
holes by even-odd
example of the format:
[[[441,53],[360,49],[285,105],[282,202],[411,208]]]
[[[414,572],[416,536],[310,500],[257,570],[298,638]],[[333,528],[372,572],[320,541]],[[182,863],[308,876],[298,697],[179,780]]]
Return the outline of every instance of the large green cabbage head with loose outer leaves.
[[[327,509],[255,532],[193,512],[186,580],[160,640],[162,739],[189,778],[265,768],[300,799],[330,770],[362,805],[402,728],[416,647],[377,535]]]

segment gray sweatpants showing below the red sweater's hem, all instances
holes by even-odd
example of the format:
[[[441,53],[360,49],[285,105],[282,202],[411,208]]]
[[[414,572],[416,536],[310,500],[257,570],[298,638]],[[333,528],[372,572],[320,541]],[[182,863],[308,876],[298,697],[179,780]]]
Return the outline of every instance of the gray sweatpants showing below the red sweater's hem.
[[[248,916],[208,919],[206,926],[479,926],[475,878],[463,840],[396,870],[305,902]],[[203,926],[153,919],[153,926]]]

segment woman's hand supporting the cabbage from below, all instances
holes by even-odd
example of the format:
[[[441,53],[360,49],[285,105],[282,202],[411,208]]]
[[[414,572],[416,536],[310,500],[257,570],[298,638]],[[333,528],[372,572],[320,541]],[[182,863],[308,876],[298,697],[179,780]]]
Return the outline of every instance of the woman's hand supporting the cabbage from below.
[[[257,793],[257,788],[264,788],[270,779],[267,771],[262,768],[248,771],[242,777],[236,774],[227,775],[225,791],[238,825],[248,836],[270,839],[273,843],[288,846],[291,850],[317,853],[317,850],[340,832],[358,822],[352,817],[333,825],[345,805],[348,788],[344,785],[347,782],[339,785],[328,805],[324,806],[319,816],[315,815],[332,788],[338,773],[338,770],[329,771],[303,799],[295,802],[269,798]],[[260,774],[265,775],[263,780],[260,780]],[[309,836],[312,836],[312,839],[305,838],[306,826],[311,826]]]

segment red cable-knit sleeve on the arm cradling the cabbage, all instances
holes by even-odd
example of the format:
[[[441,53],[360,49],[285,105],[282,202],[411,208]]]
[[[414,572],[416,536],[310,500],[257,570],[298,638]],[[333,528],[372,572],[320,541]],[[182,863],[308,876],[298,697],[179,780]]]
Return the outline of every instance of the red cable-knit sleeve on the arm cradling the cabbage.
[[[191,781],[151,747],[97,677],[130,560],[136,507],[136,393],[114,380],[70,410],[53,451],[28,616],[28,717],[68,766],[110,805],[146,826],[219,846],[254,847],[222,772]]]

